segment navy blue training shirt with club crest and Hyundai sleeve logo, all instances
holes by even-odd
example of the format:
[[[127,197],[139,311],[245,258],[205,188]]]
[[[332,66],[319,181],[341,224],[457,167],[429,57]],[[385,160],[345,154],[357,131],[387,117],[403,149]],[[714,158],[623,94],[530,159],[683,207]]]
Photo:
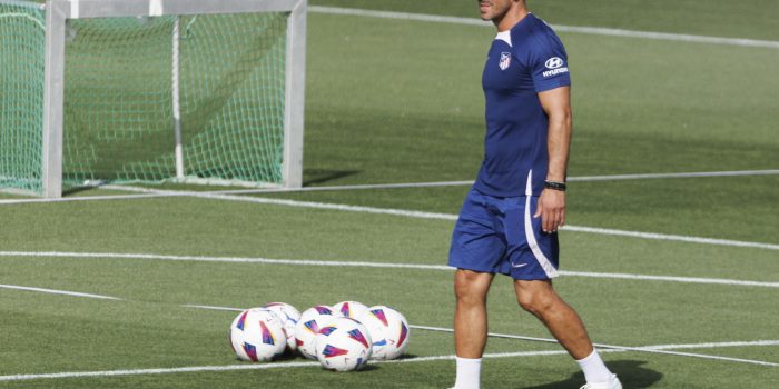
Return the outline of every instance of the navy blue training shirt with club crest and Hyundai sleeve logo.
[[[560,38],[532,13],[499,32],[487,54],[484,161],[474,188],[496,197],[539,196],[549,168],[549,118],[538,93],[571,84]]]

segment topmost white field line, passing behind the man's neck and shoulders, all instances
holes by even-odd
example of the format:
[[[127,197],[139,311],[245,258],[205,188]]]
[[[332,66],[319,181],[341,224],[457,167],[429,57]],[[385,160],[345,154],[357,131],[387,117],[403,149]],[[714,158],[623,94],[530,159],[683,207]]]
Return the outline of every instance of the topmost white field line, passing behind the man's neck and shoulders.
[[[413,20],[413,21],[425,21],[425,22],[493,27],[492,23],[481,21],[475,17],[474,18],[458,18],[458,17],[444,17],[444,16],[436,16],[436,14],[374,11],[374,10],[363,10],[363,9],[317,7],[317,6],[308,7],[308,10],[312,12],[316,12],[316,13],[328,13],[328,14],[345,14],[345,16],[358,16],[358,17],[381,18],[381,19]],[[681,34],[681,33],[651,32],[651,31],[632,31],[632,30],[598,28],[598,27],[552,26],[552,28],[554,28],[556,31],[560,31],[560,32],[586,33],[586,34],[623,37],[623,38],[669,40],[669,41],[677,41],[677,42],[694,42],[694,43],[710,43],[710,44],[726,44],[726,46],[779,49],[779,42],[769,41],[769,40],[706,37],[706,36],[692,36],[692,34]]]

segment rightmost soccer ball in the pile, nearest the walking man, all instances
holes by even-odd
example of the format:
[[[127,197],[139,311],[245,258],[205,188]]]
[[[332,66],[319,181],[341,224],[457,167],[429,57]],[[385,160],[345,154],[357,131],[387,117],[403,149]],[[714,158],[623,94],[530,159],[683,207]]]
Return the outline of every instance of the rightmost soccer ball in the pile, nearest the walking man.
[[[363,323],[373,339],[372,359],[395,359],[408,346],[408,321],[401,312],[385,306],[368,308],[357,321]]]

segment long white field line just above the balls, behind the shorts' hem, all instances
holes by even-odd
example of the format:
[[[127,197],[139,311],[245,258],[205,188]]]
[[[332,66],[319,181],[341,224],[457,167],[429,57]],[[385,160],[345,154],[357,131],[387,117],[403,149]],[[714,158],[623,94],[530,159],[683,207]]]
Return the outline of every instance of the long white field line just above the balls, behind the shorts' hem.
[[[142,259],[161,261],[195,261],[195,262],[231,262],[231,263],[263,263],[263,265],[288,265],[288,266],[323,266],[323,267],[357,267],[357,268],[382,268],[382,269],[415,269],[415,270],[438,270],[453,271],[454,269],[444,265],[422,265],[422,263],[395,263],[395,262],[368,262],[368,261],[332,261],[313,259],[269,259],[249,257],[206,257],[206,256],[170,256],[154,253],[117,253],[117,252],[37,252],[37,251],[0,251],[0,257],[37,257],[37,258],[76,258],[76,259]],[[762,288],[779,288],[779,282],[731,280],[721,278],[694,278],[674,276],[650,276],[650,275],[628,275],[628,273],[603,273],[589,271],[561,271],[566,277],[588,277],[604,279],[627,279],[643,281],[664,281],[681,283],[708,283],[724,286],[747,286]]]

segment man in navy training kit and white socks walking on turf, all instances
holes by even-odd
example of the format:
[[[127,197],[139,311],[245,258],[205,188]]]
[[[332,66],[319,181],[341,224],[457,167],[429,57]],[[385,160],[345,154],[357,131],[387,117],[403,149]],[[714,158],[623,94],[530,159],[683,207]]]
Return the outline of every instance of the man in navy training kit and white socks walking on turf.
[[[486,345],[486,296],[495,273],[514,279],[522,308],[538,317],[576,359],[582,389],[621,389],[594,350],[579,315],[552,288],[558,276],[558,228],[565,221],[565,173],[571,139],[568,56],[552,29],[525,0],[480,0],[497,37],[483,73],[486,101],[484,161],[452,236],[457,268],[455,389],[480,386]]]

